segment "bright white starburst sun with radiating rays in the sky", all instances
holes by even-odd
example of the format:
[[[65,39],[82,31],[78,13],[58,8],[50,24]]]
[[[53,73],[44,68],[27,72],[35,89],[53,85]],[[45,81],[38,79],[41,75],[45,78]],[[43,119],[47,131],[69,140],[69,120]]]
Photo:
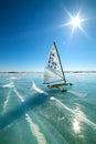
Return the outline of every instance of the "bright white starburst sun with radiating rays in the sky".
[[[71,18],[71,21],[67,22],[67,23],[62,24],[62,27],[72,25],[72,32],[71,32],[71,34],[73,34],[74,31],[75,31],[75,29],[78,28],[84,34],[87,35],[87,33],[85,32],[85,30],[82,27],[82,22],[84,22],[84,21],[86,21],[88,19],[82,19],[79,17],[79,11],[77,12],[77,14],[75,17],[73,17],[67,10],[65,10],[65,11],[68,14],[68,17]]]

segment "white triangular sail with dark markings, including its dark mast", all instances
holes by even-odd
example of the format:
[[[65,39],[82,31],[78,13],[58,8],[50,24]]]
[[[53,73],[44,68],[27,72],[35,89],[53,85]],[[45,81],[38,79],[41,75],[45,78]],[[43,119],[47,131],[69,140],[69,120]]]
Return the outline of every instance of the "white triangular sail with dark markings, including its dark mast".
[[[66,82],[55,42],[50,50],[44,71],[44,83],[54,81]]]

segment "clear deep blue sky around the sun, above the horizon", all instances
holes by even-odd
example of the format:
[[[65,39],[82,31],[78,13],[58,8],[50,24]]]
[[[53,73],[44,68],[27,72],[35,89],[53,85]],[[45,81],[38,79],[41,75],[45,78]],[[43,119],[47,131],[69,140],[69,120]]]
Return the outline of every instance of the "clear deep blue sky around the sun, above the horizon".
[[[96,70],[95,0],[0,0],[0,71],[43,71],[56,42],[64,70]],[[73,25],[66,10],[87,19]]]

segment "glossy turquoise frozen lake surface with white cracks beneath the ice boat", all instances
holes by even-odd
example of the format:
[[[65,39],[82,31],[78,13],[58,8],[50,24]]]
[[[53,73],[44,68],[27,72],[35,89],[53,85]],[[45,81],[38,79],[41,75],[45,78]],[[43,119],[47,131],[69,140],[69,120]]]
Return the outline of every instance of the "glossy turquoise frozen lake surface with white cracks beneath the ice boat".
[[[67,92],[43,73],[0,74],[0,144],[96,144],[96,73],[65,73]]]

